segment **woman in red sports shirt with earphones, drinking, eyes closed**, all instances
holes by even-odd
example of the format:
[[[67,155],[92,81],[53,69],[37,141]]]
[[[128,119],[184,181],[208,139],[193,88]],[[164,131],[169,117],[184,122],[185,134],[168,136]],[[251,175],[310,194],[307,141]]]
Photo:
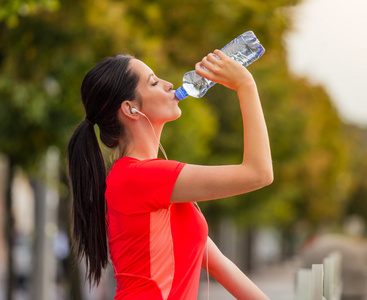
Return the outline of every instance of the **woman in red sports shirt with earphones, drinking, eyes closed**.
[[[237,299],[268,299],[218,250],[194,205],[272,182],[256,84],[246,68],[219,50],[195,69],[238,93],[244,123],[239,165],[199,166],[157,159],[163,126],[180,117],[181,110],[172,84],[159,79],[142,61],[125,55],[109,57],[83,81],[86,117],[68,148],[74,245],[78,257],[85,256],[90,283],[97,284],[109,249],[117,279],[115,299],[197,299],[201,267]],[[107,179],[94,124],[101,141],[119,151]]]

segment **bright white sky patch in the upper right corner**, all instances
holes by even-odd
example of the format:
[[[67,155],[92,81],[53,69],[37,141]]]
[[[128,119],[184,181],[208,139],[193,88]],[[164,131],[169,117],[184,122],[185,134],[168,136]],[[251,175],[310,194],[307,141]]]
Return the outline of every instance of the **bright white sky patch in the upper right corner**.
[[[343,121],[367,127],[367,0],[303,0],[290,12],[290,71],[323,85]]]

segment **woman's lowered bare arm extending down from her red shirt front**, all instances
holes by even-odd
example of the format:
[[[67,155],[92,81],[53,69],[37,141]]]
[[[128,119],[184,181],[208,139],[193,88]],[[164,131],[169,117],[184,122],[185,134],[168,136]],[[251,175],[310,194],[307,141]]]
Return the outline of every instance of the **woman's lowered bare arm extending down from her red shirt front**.
[[[269,300],[269,298],[208,237],[209,274],[238,300]],[[206,270],[204,252],[202,267]],[[208,270],[207,270],[208,271]]]

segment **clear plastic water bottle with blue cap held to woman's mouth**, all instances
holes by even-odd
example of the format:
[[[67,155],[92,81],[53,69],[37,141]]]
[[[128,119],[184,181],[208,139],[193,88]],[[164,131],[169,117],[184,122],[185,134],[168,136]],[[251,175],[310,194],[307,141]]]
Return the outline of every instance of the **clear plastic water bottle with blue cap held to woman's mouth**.
[[[247,67],[261,57],[265,49],[255,34],[247,31],[224,46],[222,52]],[[195,71],[190,71],[184,75],[182,87],[175,91],[175,95],[179,100],[185,99],[188,95],[201,98],[214,84],[215,82],[199,76]]]

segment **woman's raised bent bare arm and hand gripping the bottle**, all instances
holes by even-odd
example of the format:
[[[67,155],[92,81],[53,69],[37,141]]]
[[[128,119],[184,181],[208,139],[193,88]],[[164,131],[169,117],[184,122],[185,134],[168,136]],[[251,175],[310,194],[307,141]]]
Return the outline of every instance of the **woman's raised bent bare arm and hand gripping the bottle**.
[[[219,50],[196,64],[196,72],[237,91],[243,118],[243,161],[238,165],[186,165],[177,178],[171,202],[219,199],[269,185],[273,169],[269,138],[256,83],[248,70]],[[206,69],[202,68],[205,67]],[[223,101],[223,105],[231,105]]]

